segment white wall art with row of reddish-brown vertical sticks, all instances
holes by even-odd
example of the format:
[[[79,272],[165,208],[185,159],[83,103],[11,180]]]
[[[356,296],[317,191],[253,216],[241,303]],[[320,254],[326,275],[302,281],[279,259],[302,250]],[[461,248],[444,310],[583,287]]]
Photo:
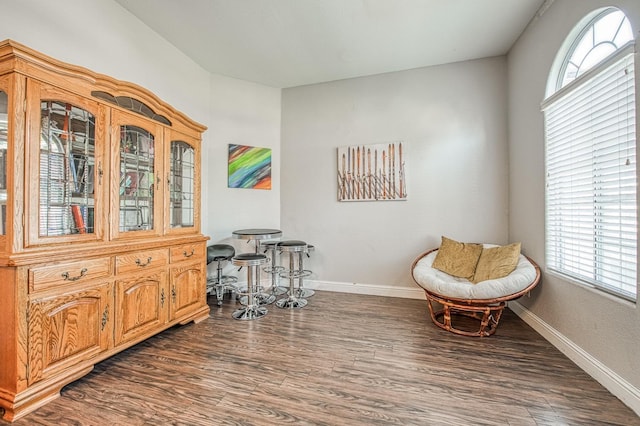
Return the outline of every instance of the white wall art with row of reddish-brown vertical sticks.
[[[338,201],[407,199],[402,142],[338,148]]]

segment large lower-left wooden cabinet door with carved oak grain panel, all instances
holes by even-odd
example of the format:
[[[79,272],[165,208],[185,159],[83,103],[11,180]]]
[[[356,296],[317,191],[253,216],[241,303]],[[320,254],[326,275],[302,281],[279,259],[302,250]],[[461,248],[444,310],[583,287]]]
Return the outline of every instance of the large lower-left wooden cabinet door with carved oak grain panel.
[[[112,291],[108,282],[29,302],[29,384],[111,347]]]

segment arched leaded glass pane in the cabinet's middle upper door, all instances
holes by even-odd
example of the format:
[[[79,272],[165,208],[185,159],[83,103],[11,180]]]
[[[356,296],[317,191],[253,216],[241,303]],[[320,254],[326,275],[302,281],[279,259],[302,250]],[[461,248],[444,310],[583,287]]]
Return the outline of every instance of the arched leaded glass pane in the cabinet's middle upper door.
[[[120,127],[120,232],[153,229],[154,137]]]

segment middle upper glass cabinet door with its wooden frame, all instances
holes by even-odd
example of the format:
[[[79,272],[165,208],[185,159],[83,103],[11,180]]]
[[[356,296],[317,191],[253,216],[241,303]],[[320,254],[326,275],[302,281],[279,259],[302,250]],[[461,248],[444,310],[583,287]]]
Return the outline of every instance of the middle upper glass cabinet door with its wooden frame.
[[[118,133],[113,138],[112,157],[117,162],[113,170],[119,180],[117,200],[112,205],[117,207],[113,215],[118,219],[117,234],[159,234],[162,210],[156,194],[161,184],[162,128],[122,112],[115,116],[112,131]]]

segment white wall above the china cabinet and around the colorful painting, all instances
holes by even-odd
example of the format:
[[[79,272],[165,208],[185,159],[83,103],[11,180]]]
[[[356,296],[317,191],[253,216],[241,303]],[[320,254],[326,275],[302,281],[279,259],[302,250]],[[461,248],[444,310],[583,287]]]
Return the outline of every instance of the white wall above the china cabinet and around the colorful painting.
[[[8,0],[0,39],[136,83],[209,129],[203,135],[202,229],[280,225],[280,90],[211,75],[112,0]],[[227,189],[227,145],[273,149],[271,191]]]

